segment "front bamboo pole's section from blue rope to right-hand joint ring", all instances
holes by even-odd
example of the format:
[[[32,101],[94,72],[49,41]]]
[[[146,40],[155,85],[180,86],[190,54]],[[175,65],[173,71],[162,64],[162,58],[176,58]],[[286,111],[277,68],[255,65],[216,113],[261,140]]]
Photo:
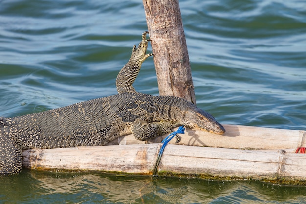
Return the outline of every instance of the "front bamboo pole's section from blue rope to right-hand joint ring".
[[[170,146],[170,145],[169,145]],[[219,177],[262,179],[278,174],[284,154],[278,150],[255,151],[172,145],[159,171],[178,174],[209,174]]]

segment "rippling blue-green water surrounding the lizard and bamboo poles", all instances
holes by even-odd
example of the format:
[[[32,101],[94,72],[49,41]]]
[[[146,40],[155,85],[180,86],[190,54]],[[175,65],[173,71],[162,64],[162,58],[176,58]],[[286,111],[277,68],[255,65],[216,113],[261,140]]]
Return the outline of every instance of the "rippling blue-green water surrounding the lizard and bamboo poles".
[[[306,130],[306,3],[181,0],[197,105],[224,124]],[[0,1],[0,116],[116,94],[147,30],[142,1]],[[149,51],[150,51],[149,47]],[[158,94],[153,59],[137,91]],[[297,203],[305,187],[257,181],[24,170],[0,203]]]

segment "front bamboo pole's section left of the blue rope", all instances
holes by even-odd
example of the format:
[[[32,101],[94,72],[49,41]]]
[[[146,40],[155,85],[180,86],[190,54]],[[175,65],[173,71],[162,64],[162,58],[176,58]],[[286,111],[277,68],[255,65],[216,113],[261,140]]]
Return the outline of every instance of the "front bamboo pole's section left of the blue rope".
[[[116,145],[23,150],[23,166],[33,169],[67,169],[149,173],[158,144]]]

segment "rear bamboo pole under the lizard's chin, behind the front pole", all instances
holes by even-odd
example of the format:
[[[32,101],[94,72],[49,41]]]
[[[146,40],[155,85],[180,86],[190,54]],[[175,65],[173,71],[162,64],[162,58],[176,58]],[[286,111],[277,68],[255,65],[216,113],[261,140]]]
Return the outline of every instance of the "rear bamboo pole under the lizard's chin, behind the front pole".
[[[236,149],[292,149],[306,145],[306,131],[242,125],[223,126],[226,129],[223,135],[186,129],[184,135],[180,134],[181,141],[178,144]],[[151,142],[160,143],[166,136],[158,137]],[[110,145],[143,143],[136,140],[133,135],[128,135],[116,139]],[[175,139],[170,143],[175,143]]]

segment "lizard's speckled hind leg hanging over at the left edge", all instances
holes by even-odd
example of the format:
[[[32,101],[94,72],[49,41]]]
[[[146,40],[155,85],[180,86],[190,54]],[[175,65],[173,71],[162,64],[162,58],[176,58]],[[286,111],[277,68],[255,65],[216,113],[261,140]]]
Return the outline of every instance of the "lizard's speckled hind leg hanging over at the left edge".
[[[21,170],[21,148],[10,137],[0,134],[0,175],[18,174]]]

